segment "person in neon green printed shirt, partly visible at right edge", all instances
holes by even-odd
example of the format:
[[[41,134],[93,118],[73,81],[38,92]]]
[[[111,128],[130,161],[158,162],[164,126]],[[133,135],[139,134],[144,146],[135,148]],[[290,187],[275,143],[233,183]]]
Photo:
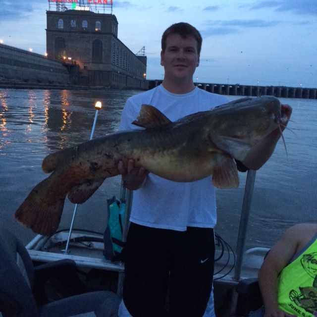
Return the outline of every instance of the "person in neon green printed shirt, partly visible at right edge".
[[[250,316],[317,316],[317,224],[290,227],[259,272],[264,308]]]

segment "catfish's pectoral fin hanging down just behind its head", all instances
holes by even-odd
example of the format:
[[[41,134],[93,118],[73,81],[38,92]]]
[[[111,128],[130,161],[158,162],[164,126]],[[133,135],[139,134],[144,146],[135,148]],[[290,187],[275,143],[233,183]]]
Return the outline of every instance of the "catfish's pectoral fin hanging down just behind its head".
[[[221,155],[212,171],[212,184],[221,189],[237,188],[239,176],[237,165],[229,156]]]

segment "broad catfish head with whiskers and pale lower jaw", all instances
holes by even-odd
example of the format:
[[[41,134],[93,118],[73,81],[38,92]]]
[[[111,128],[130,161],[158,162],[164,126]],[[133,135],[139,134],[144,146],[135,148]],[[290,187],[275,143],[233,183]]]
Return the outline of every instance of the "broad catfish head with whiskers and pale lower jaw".
[[[210,138],[250,169],[259,169],[272,154],[287,125],[291,107],[272,96],[242,98],[211,113]]]

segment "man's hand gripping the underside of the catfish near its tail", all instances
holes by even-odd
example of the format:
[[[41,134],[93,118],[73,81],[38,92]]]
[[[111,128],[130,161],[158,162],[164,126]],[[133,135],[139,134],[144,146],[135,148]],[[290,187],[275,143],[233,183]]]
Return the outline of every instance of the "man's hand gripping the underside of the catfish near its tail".
[[[128,160],[128,166],[125,168],[123,162],[118,162],[118,171],[122,175],[123,186],[130,190],[136,190],[142,187],[146,177],[149,174],[144,167],[135,167],[134,159]]]

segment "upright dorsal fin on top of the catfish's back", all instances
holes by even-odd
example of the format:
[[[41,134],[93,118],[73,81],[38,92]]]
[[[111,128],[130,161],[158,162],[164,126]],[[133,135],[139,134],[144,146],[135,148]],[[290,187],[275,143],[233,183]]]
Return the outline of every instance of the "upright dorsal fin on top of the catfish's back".
[[[173,122],[156,107],[151,105],[142,105],[140,115],[132,123],[146,129],[162,129],[171,126]]]

